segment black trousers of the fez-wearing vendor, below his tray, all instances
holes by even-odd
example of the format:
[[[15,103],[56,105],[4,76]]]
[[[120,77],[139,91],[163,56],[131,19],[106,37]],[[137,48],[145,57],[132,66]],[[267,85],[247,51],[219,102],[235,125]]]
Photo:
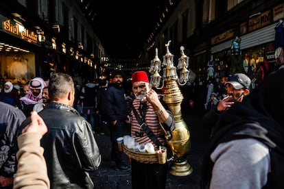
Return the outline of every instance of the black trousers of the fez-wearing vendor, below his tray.
[[[168,164],[143,164],[131,160],[132,188],[165,189]]]

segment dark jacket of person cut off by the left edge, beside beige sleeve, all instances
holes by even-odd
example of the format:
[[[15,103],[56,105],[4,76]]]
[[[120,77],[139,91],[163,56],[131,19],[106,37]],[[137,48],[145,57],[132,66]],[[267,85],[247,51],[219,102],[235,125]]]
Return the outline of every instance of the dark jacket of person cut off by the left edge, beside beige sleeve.
[[[16,173],[16,137],[25,115],[12,105],[0,102],[0,175]]]

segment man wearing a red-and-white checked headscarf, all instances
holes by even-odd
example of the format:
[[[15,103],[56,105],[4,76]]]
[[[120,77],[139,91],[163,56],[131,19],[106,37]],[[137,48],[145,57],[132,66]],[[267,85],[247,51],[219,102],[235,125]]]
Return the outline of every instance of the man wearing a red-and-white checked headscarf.
[[[36,103],[43,102],[43,88],[46,86],[47,84],[41,77],[35,77],[29,81],[29,92],[20,99],[25,116],[28,117],[30,115]]]

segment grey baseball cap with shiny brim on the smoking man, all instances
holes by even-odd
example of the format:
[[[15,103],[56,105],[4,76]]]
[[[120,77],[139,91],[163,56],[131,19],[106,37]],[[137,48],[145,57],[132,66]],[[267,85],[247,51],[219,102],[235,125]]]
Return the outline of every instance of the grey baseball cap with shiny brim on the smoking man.
[[[235,73],[230,76],[226,84],[231,84],[235,89],[247,88],[250,89],[250,77],[244,73]]]

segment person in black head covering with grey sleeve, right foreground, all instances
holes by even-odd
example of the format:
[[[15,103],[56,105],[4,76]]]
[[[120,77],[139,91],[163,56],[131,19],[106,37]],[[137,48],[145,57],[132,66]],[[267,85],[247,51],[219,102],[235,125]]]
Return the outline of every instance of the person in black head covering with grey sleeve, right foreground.
[[[284,69],[222,113],[202,157],[202,188],[283,188]]]

